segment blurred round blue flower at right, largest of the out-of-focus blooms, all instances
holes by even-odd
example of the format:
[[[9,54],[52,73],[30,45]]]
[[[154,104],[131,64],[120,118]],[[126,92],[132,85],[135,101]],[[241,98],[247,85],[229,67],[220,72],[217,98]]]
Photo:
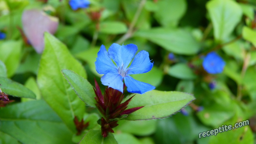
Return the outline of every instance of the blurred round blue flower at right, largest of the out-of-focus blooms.
[[[225,61],[216,53],[209,52],[204,57],[203,67],[210,74],[217,74],[223,71]]]

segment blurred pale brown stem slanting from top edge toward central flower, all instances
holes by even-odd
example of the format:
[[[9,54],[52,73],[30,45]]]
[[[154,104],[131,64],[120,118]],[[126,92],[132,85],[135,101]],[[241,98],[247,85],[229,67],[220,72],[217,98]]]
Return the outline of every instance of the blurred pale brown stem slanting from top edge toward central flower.
[[[130,38],[132,36],[132,34],[134,32],[134,26],[135,26],[137,20],[139,19],[140,12],[142,11],[142,8],[144,7],[145,3],[146,3],[146,0],[141,0],[140,5],[132,19],[132,22],[131,22],[127,32],[120,39],[118,39],[115,43],[117,43],[117,44],[123,43],[125,40],[127,40],[128,38]]]

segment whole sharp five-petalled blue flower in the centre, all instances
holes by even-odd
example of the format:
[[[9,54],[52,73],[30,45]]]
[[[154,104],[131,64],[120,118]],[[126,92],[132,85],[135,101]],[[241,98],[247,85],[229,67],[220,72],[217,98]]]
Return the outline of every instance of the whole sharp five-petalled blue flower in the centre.
[[[130,74],[141,74],[148,72],[153,67],[149,60],[148,52],[142,50],[134,57],[138,50],[135,44],[119,45],[112,44],[108,52],[104,45],[100,46],[98,57],[95,61],[96,71],[104,74],[101,77],[101,83],[123,92],[123,79],[128,92],[145,93],[155,89],[155,86],[140,82],[129,76]],[[134,59],[132,60],[132,58]],[[112,62],[112,60],[115,64]],[[129,68],[128,65],[132,63]]]

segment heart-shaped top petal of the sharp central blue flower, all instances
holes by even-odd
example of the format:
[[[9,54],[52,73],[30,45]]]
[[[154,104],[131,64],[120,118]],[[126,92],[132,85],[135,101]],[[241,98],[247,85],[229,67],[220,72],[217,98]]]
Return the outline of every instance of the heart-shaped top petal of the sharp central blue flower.
[[[119,45],[114,43],[108,48],[108,54],[109,57],[115,61],[117,68],[121,68],[124,64],[125,69],[137,50],[138,48],[135,44]]]

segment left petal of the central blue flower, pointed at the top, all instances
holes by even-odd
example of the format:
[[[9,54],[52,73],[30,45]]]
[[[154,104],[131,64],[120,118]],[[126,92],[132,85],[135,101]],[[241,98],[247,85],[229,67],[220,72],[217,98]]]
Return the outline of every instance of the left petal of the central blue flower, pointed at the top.
[[[100,46],[100,51],[97,53],[97,55],[98,57],[95,61],[95,68],[99,74],[118,72],[115,64],[109,58],[108,52],[103,44]]]

